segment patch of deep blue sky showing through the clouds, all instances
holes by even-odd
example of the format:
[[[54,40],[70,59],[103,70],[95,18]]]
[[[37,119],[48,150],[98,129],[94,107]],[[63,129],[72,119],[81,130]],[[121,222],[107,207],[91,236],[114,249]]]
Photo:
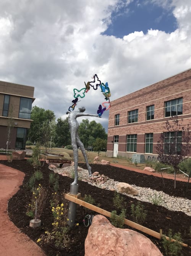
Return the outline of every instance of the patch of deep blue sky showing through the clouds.
[[[133,1],[126,7],[112,12],[112,23],[104,31],[104,35],[113,35],[123,38],[124,35],[148,29],[162,30],[171,33],[176,30],[177,22],[173,16],[172,8],[164,9],[157,4],[143,1]]]

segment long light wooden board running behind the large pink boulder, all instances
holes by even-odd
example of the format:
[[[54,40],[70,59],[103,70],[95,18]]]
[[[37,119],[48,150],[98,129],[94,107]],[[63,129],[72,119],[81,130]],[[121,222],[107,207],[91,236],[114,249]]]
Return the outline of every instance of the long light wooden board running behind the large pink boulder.
[[[104,216],[107,216],[107,217],[111,217],[111,213],[109,211],[106,211],[104,209],[101,209],[95,205],[91,205],[90,203],[86,203],[85,201],[83,200],[80,200],[79,198],[77,198],[78,195],[71,195],[70,193],[68,194],[65,194],[65,199],[73,202],[73,203],[77,203],[78,205],[82,205],[92,211],[96,211],[97,213],[100,213]],[[79,194],[79,197],[80,197],[80,194]],[[141,226],[133,221],[130,221],[130,220],[127,220],[125,219],[124,220],[124,223],[132,228],[135,228],[136,230],[139,230],[139,231],[142,231],[144,233],[146,233],[147,235],[150,235],[150,236],[153,236],[155,238],[158,238],[158,239],[161,239],[162,237],[162,232],[158,233],[154,230],[150,230],[149,228],[146,228],[144,226]],[[165,236],[166,239],[170,239],[168,236]],[[176,241],[174,239],[171,239],[171,241]],[[180,242],[179,242],[180,243]],[[185,246],[185,247],[188,247],[188,244],[184,244],[184,243],[180,243],[182,246]],[[190,246],[189,246],[190,247]]]

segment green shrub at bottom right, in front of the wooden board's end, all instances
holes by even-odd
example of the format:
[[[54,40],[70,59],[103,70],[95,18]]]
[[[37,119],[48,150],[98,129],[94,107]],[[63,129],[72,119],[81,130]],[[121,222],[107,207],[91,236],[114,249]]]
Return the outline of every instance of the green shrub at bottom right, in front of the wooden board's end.
[[[167,253],[167,255],[170,255],[170,256],[179,255],[182,249],[182,245],[180,244],[182,243],[180,232],[172,235],[172,230],[170,229],[168,231],[168,237],[169,237],[169,240],[166,239],[165,236],[162,236],[162,244],[165,249],[165,252]],[[176,241],[171,241],[171,239],[175,239]]]

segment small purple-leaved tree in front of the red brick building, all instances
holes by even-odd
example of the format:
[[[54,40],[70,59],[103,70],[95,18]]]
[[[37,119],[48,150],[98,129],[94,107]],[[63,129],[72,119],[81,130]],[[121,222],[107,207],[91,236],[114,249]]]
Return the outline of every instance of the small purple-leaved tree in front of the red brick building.
[[[181,119],[181,122],[183,120]],[[166,132],[162,132],[160,140],[157,142],[157,154],[159,155],[159,161],[163,164],[172,165],[175,171],[175,188],[176,188],[176,172],[178,170],[178,164],[184,160],[191,150],[190,130],[189,125],[182,126],[178,116],[174,116],[170,121],[165,122],[164,129]]]

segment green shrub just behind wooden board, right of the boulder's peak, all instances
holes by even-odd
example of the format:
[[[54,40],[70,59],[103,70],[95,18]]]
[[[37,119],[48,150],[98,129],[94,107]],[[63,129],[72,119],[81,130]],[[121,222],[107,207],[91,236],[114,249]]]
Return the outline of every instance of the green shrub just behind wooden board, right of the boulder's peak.
[[[132,203],[131,204],[131,216],[134,222],[139,223],[142,225],[144,223],[147,211],[144,209],[144,206],[141,205],[139,202],[136,206]]]

